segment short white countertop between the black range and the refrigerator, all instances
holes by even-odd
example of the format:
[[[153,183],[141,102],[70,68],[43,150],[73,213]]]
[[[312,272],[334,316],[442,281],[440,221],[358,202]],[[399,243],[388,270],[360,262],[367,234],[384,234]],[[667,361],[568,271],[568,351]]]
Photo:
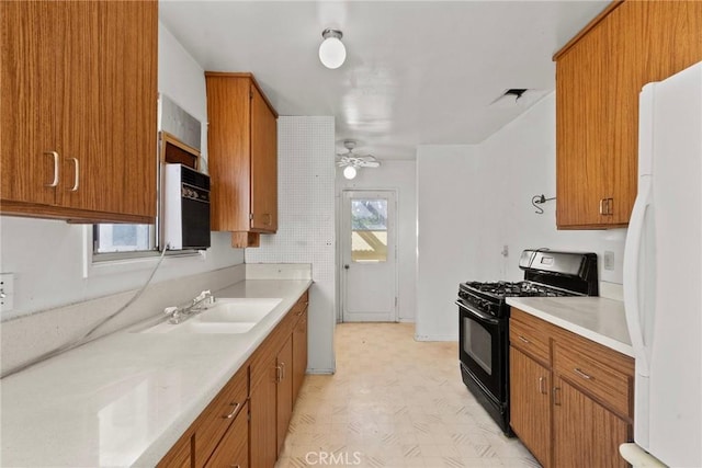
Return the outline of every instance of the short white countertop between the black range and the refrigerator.
[[[508,297],[507,304],[634,357],[624,303],[603,297]]]

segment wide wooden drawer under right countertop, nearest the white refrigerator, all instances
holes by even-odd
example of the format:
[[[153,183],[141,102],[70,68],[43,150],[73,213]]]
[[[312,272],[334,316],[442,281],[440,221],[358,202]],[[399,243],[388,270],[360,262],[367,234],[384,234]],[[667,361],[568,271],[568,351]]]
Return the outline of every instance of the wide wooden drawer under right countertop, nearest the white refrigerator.
[[[554,343],[554,372],[621,415],[632,415],[631,379],[626,374],[558,342]]]

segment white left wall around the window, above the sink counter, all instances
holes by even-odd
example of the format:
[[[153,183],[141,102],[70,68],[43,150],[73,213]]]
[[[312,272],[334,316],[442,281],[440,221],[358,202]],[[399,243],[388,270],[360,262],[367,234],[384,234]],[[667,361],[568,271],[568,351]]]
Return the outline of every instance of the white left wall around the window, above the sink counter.
[[[166,92],[194,117],[206,122],[204,70],[159,23],[159,91]],[[203,132],[203,152],[206,134]],[[156,157],[156,155],[154,156]],[[137,262],[131,271],[92,269],[83,277],[84,227],[64,221],[0,217],[0,269],[14,273],[14,309],[2,320],[48,308],[128,290],[140,286],[155,261]],[[183,277],[244,262],[231,249],[230,236],[213,232],[206,256],[167,259],[155,282]],[[129,269],[127,269],[129,270]]]

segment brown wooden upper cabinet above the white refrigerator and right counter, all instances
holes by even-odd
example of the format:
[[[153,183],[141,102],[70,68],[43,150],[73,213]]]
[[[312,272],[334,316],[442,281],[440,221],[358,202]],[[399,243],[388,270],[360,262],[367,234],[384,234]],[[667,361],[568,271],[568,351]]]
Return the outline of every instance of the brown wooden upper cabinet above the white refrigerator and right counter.
[[[701,30],[702,2],[613,2],[554,56],[559,229],[629,224],[638,94],[702,60]]]

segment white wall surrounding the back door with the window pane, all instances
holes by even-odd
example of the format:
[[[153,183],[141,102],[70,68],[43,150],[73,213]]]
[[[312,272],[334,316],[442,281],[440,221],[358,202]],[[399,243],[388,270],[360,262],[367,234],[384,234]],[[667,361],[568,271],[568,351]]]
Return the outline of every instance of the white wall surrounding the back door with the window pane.
[[[341,193],[344,190],[397,191],[397,270],[399,320],[415,321],[417,309],[417,162],[383,161],[380,168],[360,169],[353,180],[337,171],[337,219],[341,213]],[[337,224],[339,229],[340,222]],[[337,231],[340,233],[339,231]],[[340,239],[339,236],[337,238]],[[341,242],[339,242],[341,244]],[[340,271],[337,271],[339,277]],[[338,283],[341,285],[342,283]],[[340,307],[337,317],[340,317]]]

